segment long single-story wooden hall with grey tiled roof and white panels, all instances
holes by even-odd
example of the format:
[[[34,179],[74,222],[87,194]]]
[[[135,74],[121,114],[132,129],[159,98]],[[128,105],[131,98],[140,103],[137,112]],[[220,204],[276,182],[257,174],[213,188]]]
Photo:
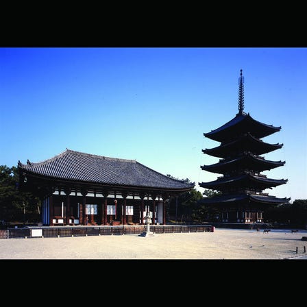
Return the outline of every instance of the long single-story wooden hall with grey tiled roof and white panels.
[[[165,202],[190,191],[187,184],[136,160],[67,149],[39,163],[19,161],[19,186],[42,199],[43,225],[166,223]]]

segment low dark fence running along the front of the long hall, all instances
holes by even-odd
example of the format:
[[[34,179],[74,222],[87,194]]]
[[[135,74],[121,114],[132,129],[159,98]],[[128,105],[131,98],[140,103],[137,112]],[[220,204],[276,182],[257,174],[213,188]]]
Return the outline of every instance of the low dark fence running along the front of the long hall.
[[[149,230],[156,234],[179,232],[214,232],[211,225],[151,225]],[[67,236],[102,236],[141,234],[146,226],[60,226],[35,228],[8,228],[0,230],[1,238],[60,238]]]

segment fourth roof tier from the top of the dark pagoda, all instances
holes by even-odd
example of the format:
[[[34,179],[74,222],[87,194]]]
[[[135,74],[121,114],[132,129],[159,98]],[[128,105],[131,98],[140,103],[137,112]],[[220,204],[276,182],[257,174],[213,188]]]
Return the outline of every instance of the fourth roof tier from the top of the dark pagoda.
[[[240,187],[256,187],[262,190],[285,184],[288,180],[275,180],[254,175],[240,175],[230,178],[222,178],[212,182],[201,182],[199,186],[202,188],[210,188],[213,190],[221,190],[221,188],[230,188],[232,186]]]

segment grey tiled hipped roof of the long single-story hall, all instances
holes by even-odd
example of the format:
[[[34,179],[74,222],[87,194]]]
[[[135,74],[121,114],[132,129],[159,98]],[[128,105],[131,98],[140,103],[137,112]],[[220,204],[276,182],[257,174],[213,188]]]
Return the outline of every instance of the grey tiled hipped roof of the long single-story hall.
[[[108,158],[66,149],[63,153],[39,163],[27,162],[19,168],[39,175],[95,184],[114,184],[166,188],[192,189],[195,184],[175,180],[145,167],[136,160]]]

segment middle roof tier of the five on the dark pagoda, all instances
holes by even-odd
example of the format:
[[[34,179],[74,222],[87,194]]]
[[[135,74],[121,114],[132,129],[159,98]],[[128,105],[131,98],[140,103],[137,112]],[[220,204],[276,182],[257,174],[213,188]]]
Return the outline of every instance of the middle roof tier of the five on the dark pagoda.
[[[281,167],[285,162],[265,160],[262,157],[254,156],[253,153],[247,152],[237,158],[220,160],[218,163],[204,165],[201,167],[204,171],[211,173],[229,173],[233,169],[250,169],[256,172],[267,171]]]

